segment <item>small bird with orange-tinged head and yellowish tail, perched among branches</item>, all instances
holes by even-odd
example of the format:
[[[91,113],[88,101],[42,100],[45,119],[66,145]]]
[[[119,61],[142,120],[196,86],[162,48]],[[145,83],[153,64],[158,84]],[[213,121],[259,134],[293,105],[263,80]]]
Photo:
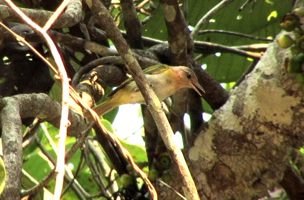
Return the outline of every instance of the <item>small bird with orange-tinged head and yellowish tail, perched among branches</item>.
[[[172,67],[160,64],[148,67],[143,72],[160,101],[182,88],[193,88],[200,96],[200,92],[205,93],[202,86],[197,82],[193,70],[188,67]],[[145,104],[145,99],[132,77],[125,80],[107,96],[109,97],[107,101],[93,108],[99,116],[123,104]]]

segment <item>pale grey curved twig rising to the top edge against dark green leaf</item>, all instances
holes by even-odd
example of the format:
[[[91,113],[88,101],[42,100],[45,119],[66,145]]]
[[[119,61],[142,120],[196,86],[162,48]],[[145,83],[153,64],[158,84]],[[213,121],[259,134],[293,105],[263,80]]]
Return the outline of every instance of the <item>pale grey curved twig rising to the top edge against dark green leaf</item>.
[[[192,36],[192,39],[194,40],[198,34],[198,31],[200,29],[200,27],[202,25],[204,25],[207,20],[210,19],[210,17],[212,15],[214,15],[216,12],[218,12],[220,9],[222,9],[223,7],[227,6],[229,3],[233,2],[234,0],[223,0],[221,2],[219,2],[218,5],[216,5],[215,7],[213,7],[210,11],[208,11],[205,16],[203,16],[199,22],[196,24],[196,26],[194,27],[193,31],[191,32],[191,36]]]

